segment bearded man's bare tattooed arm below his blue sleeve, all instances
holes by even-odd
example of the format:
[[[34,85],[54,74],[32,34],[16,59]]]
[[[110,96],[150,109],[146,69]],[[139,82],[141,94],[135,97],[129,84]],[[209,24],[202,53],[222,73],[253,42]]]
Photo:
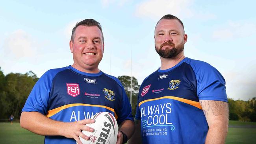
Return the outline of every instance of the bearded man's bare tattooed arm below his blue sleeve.
[[[209,130],[206,144],[224,144],[228,133],[228,103],[213,100],[199,100]]]

